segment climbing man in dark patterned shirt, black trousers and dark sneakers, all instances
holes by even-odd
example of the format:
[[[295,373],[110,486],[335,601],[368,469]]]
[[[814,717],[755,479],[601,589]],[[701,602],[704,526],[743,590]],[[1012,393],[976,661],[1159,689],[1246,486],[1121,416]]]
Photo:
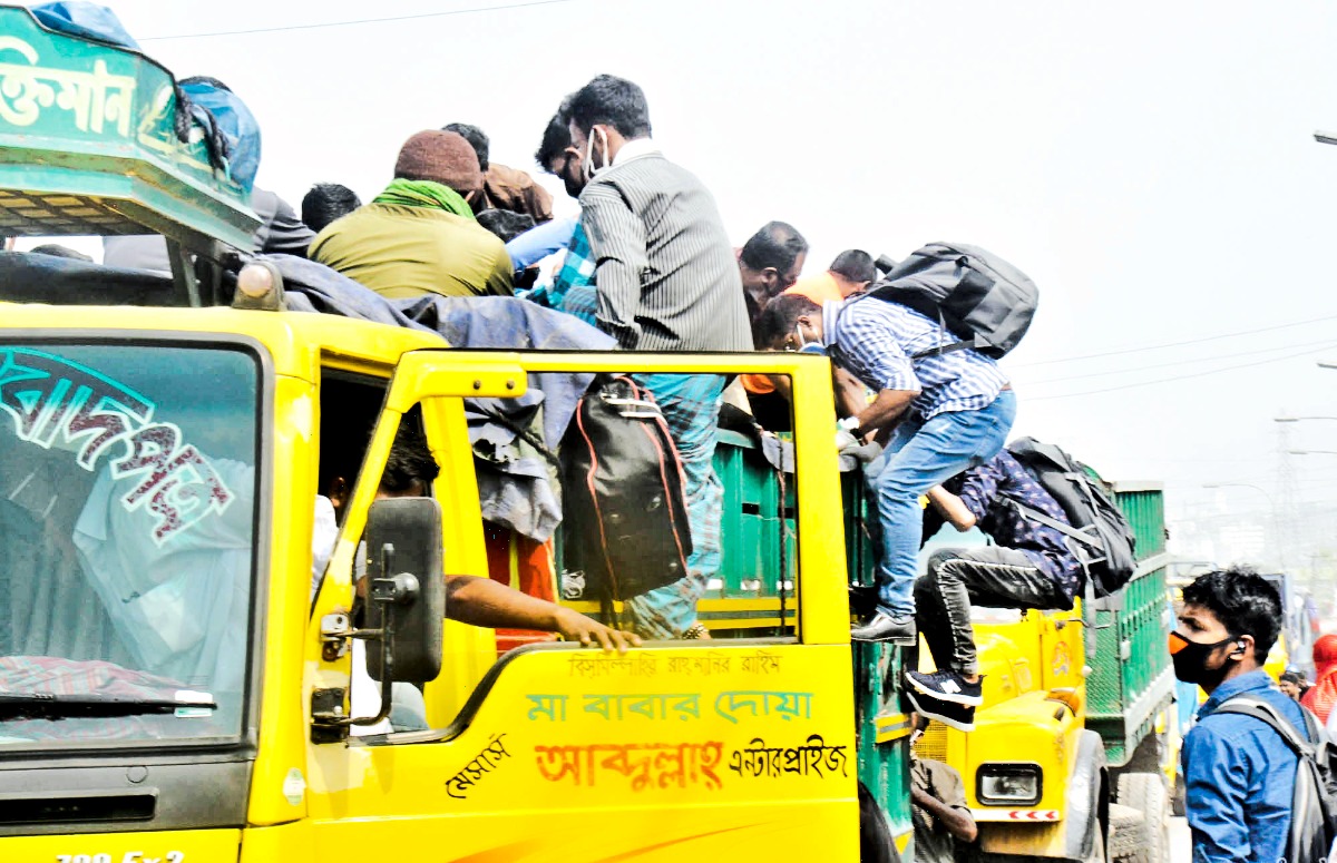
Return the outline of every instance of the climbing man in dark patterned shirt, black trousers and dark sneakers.
[[[1059,530],[1027,517],[1038,512],[1068,524],[1059,502],[1007,450],[929,489],[928,500],[957,530],[977,526],[996,542],[935,552],[915,584],[919,629],[939,671],[905,672],[909,697],[925,716],[972,731],[983,689],[971,605],[1070,609],[1084,573]]]

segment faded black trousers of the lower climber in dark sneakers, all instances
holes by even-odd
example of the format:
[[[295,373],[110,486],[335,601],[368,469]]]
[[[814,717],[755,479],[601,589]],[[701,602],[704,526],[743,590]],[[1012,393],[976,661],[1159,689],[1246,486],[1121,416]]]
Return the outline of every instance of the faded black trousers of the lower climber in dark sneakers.
[[[915,619],[940,671],[977,675],[971,605],[1072,608],[1054,580],[1021,552],[997,545],[943,549],[915,582]]]

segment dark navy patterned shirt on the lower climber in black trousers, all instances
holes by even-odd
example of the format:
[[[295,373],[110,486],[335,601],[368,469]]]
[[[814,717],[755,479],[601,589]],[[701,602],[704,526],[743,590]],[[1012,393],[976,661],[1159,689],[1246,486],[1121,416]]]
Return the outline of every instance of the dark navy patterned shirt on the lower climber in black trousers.
[[[1067,537],[1048,525],[1024,518],[1016,506],[1008,504],[1016,501],[1068,524],[1059,502],[1025,472],[1021,462],[1003,450],[979,468],[948,481],[945,488],[961,498],[980,530],[999,545],[1021,552],[1035,561],[1036,569],[1054,578],[1068,598],[1068,608],[1072,608],[1072,597],[1082,592],[1083,576],[1082,564],[1068,548]]]

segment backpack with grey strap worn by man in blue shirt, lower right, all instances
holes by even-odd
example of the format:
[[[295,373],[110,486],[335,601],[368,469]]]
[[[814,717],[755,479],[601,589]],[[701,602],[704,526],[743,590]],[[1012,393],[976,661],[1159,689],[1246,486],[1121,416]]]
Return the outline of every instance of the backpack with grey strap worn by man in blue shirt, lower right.
[[[1290,836],[1286,839],[1286,863],[1320,863],[1328,860],[1337,839],[1337,800],[1333,798],[1333,751],[1328,735],[1309,711],[1305,731],[1309,740],[1277,708],[1251,695],[1237,695],[1215,709],[1217,713],[1239,713],[1266,723],[1300,759],[1296,765],[1296,791],[1290,804]],[[1310,743],[1313,741],[1313,743]]]

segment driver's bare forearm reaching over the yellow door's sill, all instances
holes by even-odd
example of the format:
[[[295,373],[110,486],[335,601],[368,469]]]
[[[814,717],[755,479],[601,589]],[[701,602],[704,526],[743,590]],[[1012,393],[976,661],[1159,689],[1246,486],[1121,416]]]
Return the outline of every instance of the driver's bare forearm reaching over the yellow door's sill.
[[[616,648],[619,653],[640,645],[635,635],[610,629],[579,612],[520,593],[492,578],[447,576],[445,609],[447,617],[475,627],[556,632],[568,641],[586,647],[598,641],[603,649]]]

